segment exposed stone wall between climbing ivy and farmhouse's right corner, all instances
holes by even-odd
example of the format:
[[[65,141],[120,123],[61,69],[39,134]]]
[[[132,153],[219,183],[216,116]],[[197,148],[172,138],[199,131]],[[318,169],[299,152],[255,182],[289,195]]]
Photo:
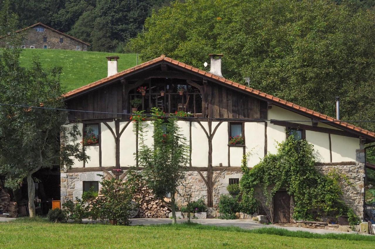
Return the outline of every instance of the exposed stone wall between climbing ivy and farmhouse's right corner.
[[[365,193],[365,163],[356,162],[354,165],[319,165],[317,169],[323,174],[335,170],[339,174],[344,174],[348,182],[343,180],[341,183],[343,199],[345,204],[353,208],[357,215],[363,219],[363,204]]]

